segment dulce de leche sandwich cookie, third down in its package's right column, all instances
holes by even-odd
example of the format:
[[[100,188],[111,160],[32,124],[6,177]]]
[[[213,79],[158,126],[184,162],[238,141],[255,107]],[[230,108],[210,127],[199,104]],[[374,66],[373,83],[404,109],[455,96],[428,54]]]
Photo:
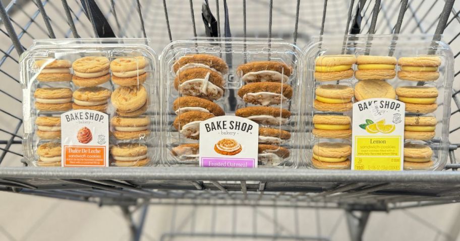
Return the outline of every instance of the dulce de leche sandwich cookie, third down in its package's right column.
[[[147,116],[120,117],[115,116],[110,120],[113,128],[113,136],[119,140],[141,139],[150,134],[149,119]]]

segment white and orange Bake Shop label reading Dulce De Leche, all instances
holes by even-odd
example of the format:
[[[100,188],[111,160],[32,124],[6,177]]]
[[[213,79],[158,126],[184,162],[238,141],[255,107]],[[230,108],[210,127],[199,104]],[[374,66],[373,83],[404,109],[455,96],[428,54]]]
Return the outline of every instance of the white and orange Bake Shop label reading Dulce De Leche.
[[[63,167],[108,167],[108,115],[73,110],[61,115]]]

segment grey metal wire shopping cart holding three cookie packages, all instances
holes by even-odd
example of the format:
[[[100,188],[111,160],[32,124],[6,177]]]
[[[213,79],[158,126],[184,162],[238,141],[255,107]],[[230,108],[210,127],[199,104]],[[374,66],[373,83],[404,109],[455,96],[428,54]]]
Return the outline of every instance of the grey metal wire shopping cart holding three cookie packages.
[[[3,1],[8,2],[8,1]],[[443,34],[460,55],[460,4],[453,0],[205,1],[216,18],[218,37],[283,38],[304,46],[311,36],[347,33]],[[20,55],[34,39],[149,37],[157,51],[178,39],[206,36],[202,1],[19,1],[0,2],[0,190],[99,205],[120,205],[139,240],[148,205],[221,205],[342,208],[352,240],[361,240],[371,211],[460,201],[455,154],[460,144],[460,73],[455,66],[449,160],[441,172],[354,172],[200,168],[26,168],[22,167]],[[202,15],[206,22],[206,15]],[[358,18],[357,18],[358,16]],[[362,19],[361,19],[362,17]],[[231,30],[231,31],[230,31]],[[131,215],[140,208],[139,222]],[[169,240],[172,234],[162,236]],[[189,233],[203,236],[206,233]],[[214,237],[238,236],[213,234]],[[328,240],[281,234],[243,238]],[[162,239],[162,240],[163,240]]]

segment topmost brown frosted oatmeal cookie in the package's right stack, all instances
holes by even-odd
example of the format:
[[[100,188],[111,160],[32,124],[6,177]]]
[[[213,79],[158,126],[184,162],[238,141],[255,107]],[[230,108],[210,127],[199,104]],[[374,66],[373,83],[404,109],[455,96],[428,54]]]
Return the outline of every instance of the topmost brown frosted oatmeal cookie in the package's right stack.
[[[292,68],[283,62],[253,61],[242,64],[237,68],[238,76],[244,82],[287,82],[292,74]]]

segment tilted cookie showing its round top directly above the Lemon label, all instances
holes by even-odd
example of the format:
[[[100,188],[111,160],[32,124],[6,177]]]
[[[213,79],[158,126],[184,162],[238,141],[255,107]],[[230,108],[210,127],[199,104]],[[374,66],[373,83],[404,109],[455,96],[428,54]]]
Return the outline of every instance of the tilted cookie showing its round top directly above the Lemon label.
[[[355,85],[355,98],[357,101],[371,98],[396,99],[393,87],[385,81],[368,79]]]

